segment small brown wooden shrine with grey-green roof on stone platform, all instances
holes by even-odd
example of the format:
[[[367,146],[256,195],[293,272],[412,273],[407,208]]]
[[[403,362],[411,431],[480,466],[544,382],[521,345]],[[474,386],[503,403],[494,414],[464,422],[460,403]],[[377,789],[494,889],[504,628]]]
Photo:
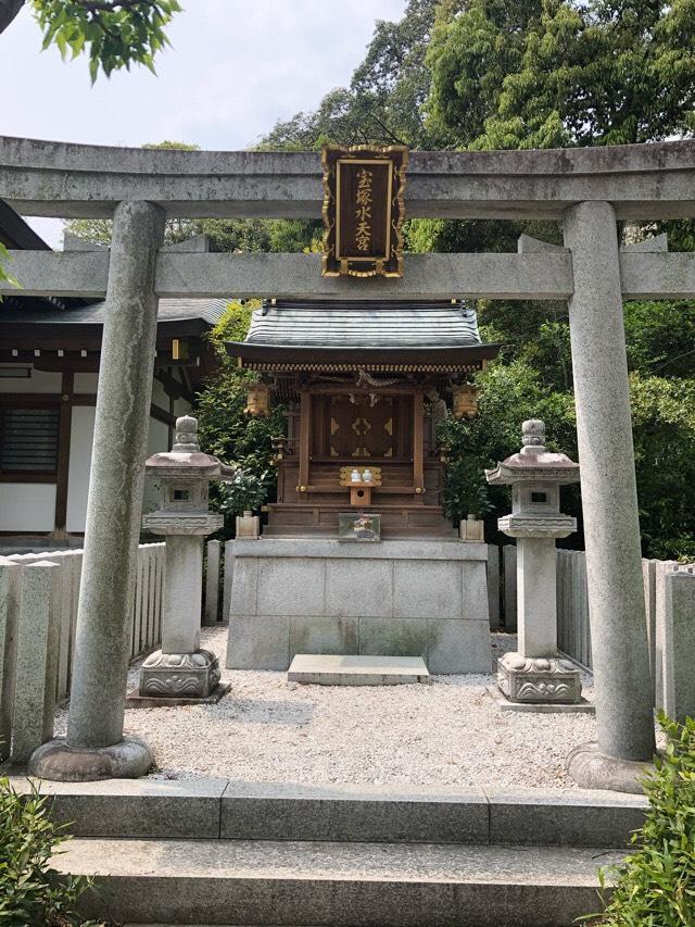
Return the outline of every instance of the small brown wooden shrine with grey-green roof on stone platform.
[[[353,512],[380,515],[383,538],[454,536],[434,429],[452,411],[475,414],[470,376],[498,350],[481,342],[473,309],[270,300],[227,348],[261,374],[250,413],[288,408],[264,535],[337,537]]]

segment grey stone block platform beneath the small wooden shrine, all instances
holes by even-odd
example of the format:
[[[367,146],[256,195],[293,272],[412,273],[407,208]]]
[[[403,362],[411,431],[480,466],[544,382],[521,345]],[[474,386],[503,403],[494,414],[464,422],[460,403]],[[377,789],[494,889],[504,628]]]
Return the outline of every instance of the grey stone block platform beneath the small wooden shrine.
[[[226,665],[402,655],[431,673],[490,673],[486,559],[484,543],[457,539],[238,539]]]

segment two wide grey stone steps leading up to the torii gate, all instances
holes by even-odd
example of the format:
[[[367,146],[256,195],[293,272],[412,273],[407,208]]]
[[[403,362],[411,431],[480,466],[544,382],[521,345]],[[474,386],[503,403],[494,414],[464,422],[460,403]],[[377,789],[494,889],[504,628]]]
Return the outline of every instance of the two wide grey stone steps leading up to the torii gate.
[[[608,792],[46,787],[78,835],[54,865],[96,877],[87,913],[178,927],[569,927],[599,906],[597,868],[645,807]]]

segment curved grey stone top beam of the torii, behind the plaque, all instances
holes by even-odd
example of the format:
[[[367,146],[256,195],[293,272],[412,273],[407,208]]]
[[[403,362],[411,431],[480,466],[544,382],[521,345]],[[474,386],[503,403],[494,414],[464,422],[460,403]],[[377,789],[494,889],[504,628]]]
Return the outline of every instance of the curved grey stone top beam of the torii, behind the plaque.
[[[0,137],[0,198],[25,215],[111,215],[148,200],[172,216],[316,217],[318,152],[112,148]],[[559,217],[582,201],[618,218],[695,212],[695,140],[602,148],[413,151],[408,216]]]

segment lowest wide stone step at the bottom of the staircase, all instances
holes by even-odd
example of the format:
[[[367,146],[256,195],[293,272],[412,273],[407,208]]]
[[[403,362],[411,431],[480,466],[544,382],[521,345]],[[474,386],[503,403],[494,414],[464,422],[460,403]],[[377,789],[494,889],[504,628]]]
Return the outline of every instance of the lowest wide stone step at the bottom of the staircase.
[[[244,840],[75,839],[53,865],[93,876],[85,913],[121,923],[567,927],[598,907],[618,851]]]

